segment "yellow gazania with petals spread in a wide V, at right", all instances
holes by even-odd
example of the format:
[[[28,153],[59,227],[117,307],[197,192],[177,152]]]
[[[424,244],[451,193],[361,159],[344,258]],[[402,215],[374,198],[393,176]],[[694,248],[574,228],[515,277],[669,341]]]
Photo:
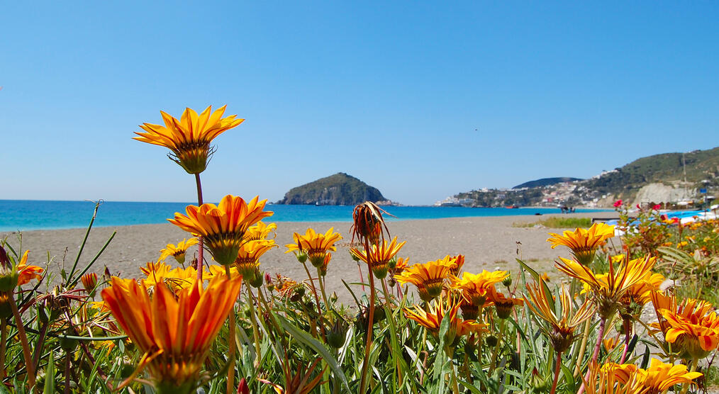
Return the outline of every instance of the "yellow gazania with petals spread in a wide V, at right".
[[[646,277],[654,267],[656,257],[641,257],[629,262],[621,262],[618,269],[610,263],[609,273],[596,275],[592,270],[574,260],[559,257],[555,267],[572,278],[577,278],[587,285],[592,298],[597,304],[597,311],[603,318],[611,316],[633,285]]]

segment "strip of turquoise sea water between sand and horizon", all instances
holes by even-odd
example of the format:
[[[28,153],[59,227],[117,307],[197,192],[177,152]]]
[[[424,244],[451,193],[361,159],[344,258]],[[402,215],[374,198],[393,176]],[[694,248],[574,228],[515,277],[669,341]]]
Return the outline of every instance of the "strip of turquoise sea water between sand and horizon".
[[[188,203],[147,203],[105,201],[98,210],[95,226],[167,223]],[[0,200],[0,231],[72,229],[88,225],[95,203],[91,201]],[[352,221],[352,206],[267,205],[274,211],[272,221]],[[559,214],[555,208],[462,208],[434,206],[386,207],[397,219],[439,219],[470,216],[516,216]],[[577,209],[577,212],[603,211]]]

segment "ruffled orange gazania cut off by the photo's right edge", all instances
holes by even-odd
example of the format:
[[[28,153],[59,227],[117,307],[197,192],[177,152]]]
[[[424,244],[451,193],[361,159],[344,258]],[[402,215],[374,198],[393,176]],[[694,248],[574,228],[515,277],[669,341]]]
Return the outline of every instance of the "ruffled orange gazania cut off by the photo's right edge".
[[[719,346],[719,316],[710,303],[691,298],[677,311],[659,309],[664,318],[664,339],[677,343],[692,358],[706,357]]]

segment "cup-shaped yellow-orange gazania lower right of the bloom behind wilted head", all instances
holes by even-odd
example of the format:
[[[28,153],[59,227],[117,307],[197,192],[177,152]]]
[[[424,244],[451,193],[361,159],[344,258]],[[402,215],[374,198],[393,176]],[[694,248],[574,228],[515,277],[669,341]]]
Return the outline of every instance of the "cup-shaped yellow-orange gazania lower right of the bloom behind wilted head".
[[[430,301],[442,293],[444,280],[449,276],[454,263],[449,256],[444,259],[415,264],[406,268],[400,275],[395,275],[400,285],[412,283],[417,286],[419,298]]]

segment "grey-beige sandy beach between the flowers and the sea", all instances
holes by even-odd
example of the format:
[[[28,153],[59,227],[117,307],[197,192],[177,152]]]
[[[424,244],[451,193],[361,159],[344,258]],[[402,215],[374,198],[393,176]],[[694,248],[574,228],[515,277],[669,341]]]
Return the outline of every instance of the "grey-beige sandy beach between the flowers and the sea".
[[[465,256],[464,270],[481,272],[481,270],[516,271],[517,257],[523,258],[539,272],[556,275],[551,262],[558,256],[569,257],[565,248],[551,249],[546,242],[548,232],[562,232],[562,229],[546,229],[536,227],[513,227],[515,222],[528,223],[546,219],[543,216],[494,216],[468,217],[451,219],[426,219],[388,222],[390,234],[407,244],[400,250],[399,257],[410,257],[410,263],[423,263],[437,260],[446,255],[462,254]],[[592,214],[565,214],[575,217],[612,217],[613,212],[596,212]],[[347,252],[349,243],[350,222],[279,222],[276,242],[280,245],[260,258],[261,269],[270,275],[279,272],[294,280],[305,280],[306,272],[292,254],[285,254],[285,244],[292,243],[293,232],[304,234],[308,227],[317,232],[326,232],[329,227],[342,234],[341,243],[333,254],[326,277],[329,293],[336,291],[342,301],[349,301],[349,293],[340,279],[347,283],[359,282],[359,272]],[[91,271],[101,273],[104,267],[114,275],[138,278],[139,267],[148,261],[157,260],[160,249],[166,244],[176,244],[188,233],[172,224],[146,224],[137,226],[97,227],[93,228],[83,255],[78,263],[84,267],[99,252],[110,235],[117,234],[105,249]],[[22,250],[29,249],[29,263],[42,265],[50,255],[51,272],[59,272],[63,266],[70,271],[86,229],[38,230],[22,234]],[[8,241],[16,247],[17,234],[0,233],[0,237],[8,237]],[[521,244],[518,244],[521,242]],[[188,251],[188,260],[196,247]],[[166,262],[176,265],[170,257]],[[308,265],[312,270],[311,265]],[[314,270],[312,270],[314,274]],[[367,279],[365,271],[365,280]],[[357,289],[359,290],[359,288]]]

